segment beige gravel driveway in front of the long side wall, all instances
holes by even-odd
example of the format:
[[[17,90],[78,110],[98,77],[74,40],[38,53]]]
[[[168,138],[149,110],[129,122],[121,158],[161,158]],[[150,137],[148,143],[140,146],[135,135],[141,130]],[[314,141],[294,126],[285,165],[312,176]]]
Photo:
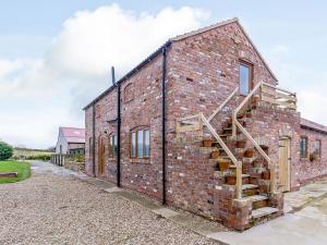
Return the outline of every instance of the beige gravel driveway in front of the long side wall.
[[[219,244],[75,176],[0,185],[0,245]]]

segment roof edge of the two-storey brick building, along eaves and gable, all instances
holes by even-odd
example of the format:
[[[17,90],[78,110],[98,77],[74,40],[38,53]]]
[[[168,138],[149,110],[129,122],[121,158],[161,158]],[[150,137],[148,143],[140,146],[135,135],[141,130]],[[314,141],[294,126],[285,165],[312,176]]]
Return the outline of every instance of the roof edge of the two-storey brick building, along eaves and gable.
[[[272,71],[269,69],[267,62],[265,61],[265,59],[263,58],[263,56],[261,54],[261,52],[257,50],[257,48],[255,47],[255,45],[253,44],[253,41],[251,40],[250,36],[246,34],[246,32],[244,30],[244,28],[242,27],[242,25],[239,22],[238,17],[228,20],[228,21],[223,21],[223,22],[219,22],[217,24],[210,25],[210,26],[206,26],[203,28],[199,28],[197,30],[193,30],[190,33],[185,33],[183,35],[179,35],[174,38],[170,38],[167,42],[165,42],[160,48],[158,48],[155,52],[153,52],[150,56],[148,56],[144,61],[142,61],[138,65],[136,65],[134,69],[132,69],[126,75],[124,75],[122,78],[120,78],[117,84],[120,84],[122,82],[124,82],[125,79],[130,78],[132,75],[134,75],[136,72],[138,72],[143,66],[145,66],[146,64],[148,64],[152,60],[154,60],[159,53],[162,52],[162,50],[165,48],[168,48],[172,42],[174,41],[179,41],[182,40],[184,38],[191,37],[191,36],[195,36],[205,32],[208,32],[210,29],[217,28],[217,27],[221,27],[231,23],[237,23],[239,25],[239,27],[241,28],[241,30],[243,32],[244,36],[249,39],[250,44],[253,46],[254,50],[257,52],[257,54],[259,56],[259,58],[262,59],[265,68],[268,70],[268,72],[270,73],[270,75],[272,76],[272,78],[277,82],[277,77],[275,76],[275,74],[272,73]],[[96,97],[93,101],[90,101],[87,106],[85,106],[83,108],[83,110],[86,110],[88,107],[90,107],[92,105],[96,103],[98,100],[100,100],[101,98],[104,98],[104,96],[106,96],[109,91],[111,91],[116,86],[111,85],[107,90],[105,90],[102,94],[100,94],[98,97]]]

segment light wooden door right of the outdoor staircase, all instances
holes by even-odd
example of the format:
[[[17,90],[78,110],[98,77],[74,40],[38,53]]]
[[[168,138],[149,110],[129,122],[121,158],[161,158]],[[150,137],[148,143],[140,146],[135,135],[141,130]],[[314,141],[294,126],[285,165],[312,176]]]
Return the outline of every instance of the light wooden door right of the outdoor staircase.
[[[290,157],[290,138],[279,139],[279,186],[282,192],[289,192],[291,186]]]

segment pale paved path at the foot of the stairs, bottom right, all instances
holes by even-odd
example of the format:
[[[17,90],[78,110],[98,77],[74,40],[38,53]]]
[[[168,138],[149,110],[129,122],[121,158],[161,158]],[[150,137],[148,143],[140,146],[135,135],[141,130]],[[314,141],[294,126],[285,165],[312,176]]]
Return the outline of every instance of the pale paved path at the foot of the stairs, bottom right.
[[[209,236],[230,245],[326,245],[327,179],[287,193],[286,215],[243,233],[218,232]]]

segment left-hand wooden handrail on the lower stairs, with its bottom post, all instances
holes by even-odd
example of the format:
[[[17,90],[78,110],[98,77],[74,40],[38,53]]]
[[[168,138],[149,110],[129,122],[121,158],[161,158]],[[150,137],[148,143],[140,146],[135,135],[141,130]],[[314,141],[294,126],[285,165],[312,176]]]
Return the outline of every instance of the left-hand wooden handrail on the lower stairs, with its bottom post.
[[[231,161],[237,167],[237,198],[242,198],[242,161],[238,161],[235,156],[231,152],[231,150],[228,148],[228,146],[225,144],[222,138],[217,134],[217,132],[214,130],[211,124],[208,122],[208,120],[204,117],[203,113],[199,113],[199,118],[203,122],[203,124],[209,130],[209,132],[214,135],[216,140],[219,143],[221,148],[226,151],[227,156],[231,159]]]

